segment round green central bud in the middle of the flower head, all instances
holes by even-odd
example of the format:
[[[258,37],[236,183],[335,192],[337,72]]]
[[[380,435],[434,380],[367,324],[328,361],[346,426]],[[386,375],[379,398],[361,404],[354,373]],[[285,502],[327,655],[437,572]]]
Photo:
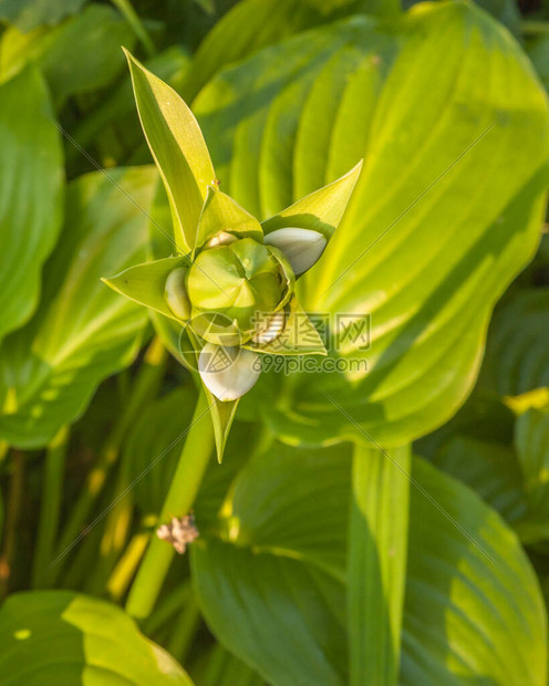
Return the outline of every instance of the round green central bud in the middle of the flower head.
[[[187,277],[193,328],[213,343],[249,340],[258,313],[274,312],[288,300],[293,277],[288,269],[277,249],[251,238],[203,250]]]

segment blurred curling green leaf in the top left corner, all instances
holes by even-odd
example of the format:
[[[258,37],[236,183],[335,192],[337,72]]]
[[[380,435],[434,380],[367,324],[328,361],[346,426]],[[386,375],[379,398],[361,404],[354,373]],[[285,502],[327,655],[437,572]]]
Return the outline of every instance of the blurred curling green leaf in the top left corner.
[[[7,81],[28,62],[35,63],[60,108],[68,97],[111,83],[124,67],[121,44],[132,48],[134,43],[131,27],[113,8],[91,4],[59,27],[30,33],[8,29],[0,40],[0,80]]]

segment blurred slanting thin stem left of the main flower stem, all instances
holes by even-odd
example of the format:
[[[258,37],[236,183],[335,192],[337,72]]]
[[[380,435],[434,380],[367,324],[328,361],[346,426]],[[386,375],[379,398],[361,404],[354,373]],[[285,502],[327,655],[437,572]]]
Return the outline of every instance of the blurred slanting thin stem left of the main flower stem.
[[[64,555],[74,540],[85,529],[92,509],[100,497],[113,465],[120,454],[122,440],[136,420],[143,405],[154,397],[164,376],[166,367],[166,350],[159,339],[154,339],[145,354],[143,365],[132,388],[130,403],[125,406],[118,420],[114,425],[106,443],[101,451],[97,464],[87,476],[80,498],[74,506],[69,521],[61,536],[58,547],[58,555]],[[53,578],[58,579],[63,569],[62,560],[53,567]]]

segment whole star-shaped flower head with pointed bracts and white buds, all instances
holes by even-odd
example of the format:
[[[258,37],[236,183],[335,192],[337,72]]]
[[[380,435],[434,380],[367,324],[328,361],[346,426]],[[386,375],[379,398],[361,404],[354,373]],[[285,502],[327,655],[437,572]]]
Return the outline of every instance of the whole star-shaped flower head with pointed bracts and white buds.
[[[321,258],[362,165],[260,224],[219,189],[200,128],[180,96],[130,54],[128,62],[180,254],[105,281],[184,328],[183,346],[190,345],[183,361],[194,353],[213,402],[232,403],[224,425],[213,414],[221,458],[236,401],[261,372],[260,355],[325,354],[296,280]]]

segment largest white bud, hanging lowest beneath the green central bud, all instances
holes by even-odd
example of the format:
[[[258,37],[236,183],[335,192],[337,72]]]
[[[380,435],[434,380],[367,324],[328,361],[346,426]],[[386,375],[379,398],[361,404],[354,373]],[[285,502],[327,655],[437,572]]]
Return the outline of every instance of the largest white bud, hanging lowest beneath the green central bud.
[[[256,384],[261,374],[258,353],[244,347],[206,343],[198,357],[204,385],[222,402],[236,401]]]

